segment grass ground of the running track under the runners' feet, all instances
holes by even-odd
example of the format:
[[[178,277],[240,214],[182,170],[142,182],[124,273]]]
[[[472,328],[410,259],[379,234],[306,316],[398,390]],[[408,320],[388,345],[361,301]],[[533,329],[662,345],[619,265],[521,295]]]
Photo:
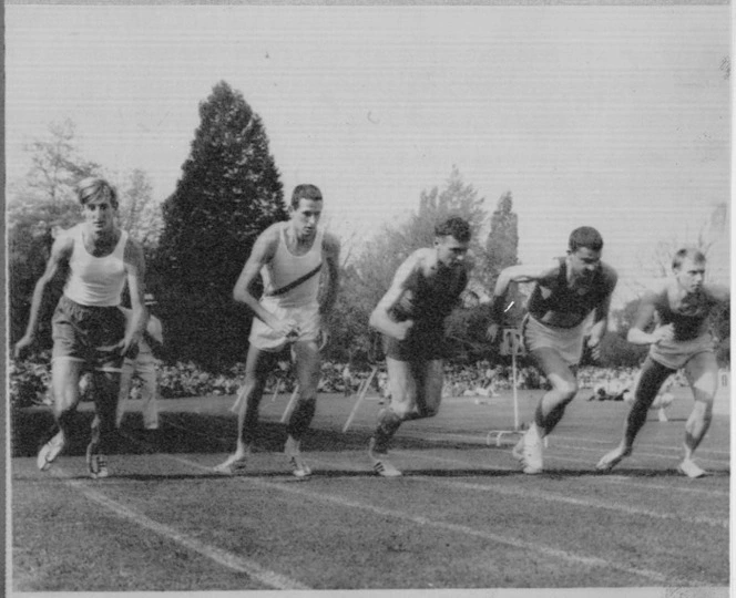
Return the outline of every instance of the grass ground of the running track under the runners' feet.
[[[727,595],[729,414],[718,409],[698,450],[711,472],[676,472],[692,409],[677,391],[669,422],[650,414],[634,454],[610,474],[597,460],[619,441],[628,405],[581,392],[550,437],[545,472],[511,456],[510,394],[446,399],[440,414],[405,424],[392,463],[366,454],[379,409],[320,395],[303,451],[314,475],[290,475],[279,420],[288,395],[264,398],[245,473],[212,467],[234,448],[233,396],[162,401],[162,427],[143,431],[130,402],[111,477],[90,480],[92,419],[82,404],[74,442],[35,467],[48,409],[12,417],[13,591],[215,591],[432,588],[718,588]],[[521,421],[540,393],[520,391]]]

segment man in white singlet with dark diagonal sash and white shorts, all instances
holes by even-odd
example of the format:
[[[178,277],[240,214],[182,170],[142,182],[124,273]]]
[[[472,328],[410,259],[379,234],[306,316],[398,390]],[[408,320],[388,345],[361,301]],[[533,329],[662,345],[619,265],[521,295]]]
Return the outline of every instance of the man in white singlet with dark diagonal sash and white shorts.
[[[233,474],[244,468],[258,427],[258,411],[268,373],[278,354],[290,344],[299,386],[297,404],[287,423],[285,453],[294,475],[311,473],[300,453],[300,443],[315,414],[320,375],[320,337],[326,338],[325,317],[335,303],[338,285],[338,240],[317,226],[323,209],[321,193],[314,185],[299,185],[292,195],[289,220],[277,223],[256,239],[233,297],[248,306],[255,318],[251,329],[245,382],[239,394],[238,435],[235,453],[215,470]],[[325,291],[319,299],[323,267]],[[263,276],[260,300],[249,291]],[[324,344],[324,343],[323,343]]]

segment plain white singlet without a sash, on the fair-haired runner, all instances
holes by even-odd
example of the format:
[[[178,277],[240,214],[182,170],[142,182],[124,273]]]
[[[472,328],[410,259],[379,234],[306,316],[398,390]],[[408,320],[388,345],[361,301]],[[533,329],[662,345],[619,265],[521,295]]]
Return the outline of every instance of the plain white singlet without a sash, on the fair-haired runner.
[[[65,235],[73,240],[72,257],[69,260],[70,275],[64,295],[82,306],[115,307],[125,286],[125,264],[123,255],[127,233],[121,230],[120,240],[112,254],[94,257],[84,247],[82,228],[76,225]]]

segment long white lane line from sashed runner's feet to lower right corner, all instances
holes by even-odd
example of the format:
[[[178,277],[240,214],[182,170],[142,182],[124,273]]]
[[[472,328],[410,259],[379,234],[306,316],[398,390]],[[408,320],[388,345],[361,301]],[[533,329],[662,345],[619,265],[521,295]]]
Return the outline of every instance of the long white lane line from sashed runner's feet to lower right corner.
[[[183,464],[187,464],[192,467],[195,467],[201,471],[206,471],[206,472],[212,472],[212,467],[201,465],[200,463],[178,457],[172,454],[166,454],[162,455],[167,458],[173,458],[174,461],[177,461]],[[477,529],[474,527],[469,527],[466,525],[460,525],[460,524],[453,524],[449,522],[439,522],[435,519],[430,519],[428,517],[421,517],[419,515],[411,515],[409,513],[405,513],[402,511],[395,511],[395,509],[389,509],[389,508],[384,508],[384,507],[378,507],[376,505],[371,504],[366,504],[366,503],[360,503],[357,501],[351,501],[349,498],[343,498],[340,496],[335,496],[335,495],[327,495],[323,494],[320,492],[311,492],[308,491],[304,487],[298,487],[303,486],[303,484],[278,484],[274,482],[266,482],[262,478],[258,477],[249,477],[249,476],[233,476],[233,480],[237,480],[238,482],[244,482],[247,484],[252,484],[254,486],[259,486],[263,488],[269,488],[269,489],[275,489],[278,492],[284,492],[288,494],[295,494],[298,496],[311,498],[313,501],[316,502],[321,502],[321,503],[331,503],[339,505],[344,508],[357,508],[360,511],[366,511],[369,513],[372,513],[375,515],[379,515],[381,517],[389,517],[393,519],[399,519],[399,520],[405,520],[409,523],[413,523],[420,526],[425,527],[433,527],[437,529],[442,529],[444,532],[453,532],[457,534],[461,535],[467,535],[467,536],[473,536],[478,538],[482,538],[484,540],[489,540],[495,544],[503,544],[507,546],[512,546],[514,548],[520,548],[523,550],[528,550],[531,553],[535,553],[540,555],[543,558],[556,558],[561,560],[565,560],[569,563],[572,563],[574,565],[584,565],[589,567],[601,567],[605,569],[613,569],[626,575],[632,575],[632,576],[637,576],[642,577],[652,581],[655,581],[657,584],[664,584],[665,581],[669,585],[689,585],[693,582],[693,580],[686,580],[686,579],[673,579],[671,575],[665,575],[660,571],[654,571],[651,569],[641,569],[637,567],[631,567],[628,565],[621,565],[617,563],[612,563],[607,559],[604,558],[599,558],[599,557],[590,557],[585,555],[579,555],[575,553],[570,553],[568,550],[562,550],[560,548],[554,548],[552,546],[545,546],[539,542],[530,543],[530,542],[524,542],[518,538],[513,537],[508,537],[508,536],[501,536],[499,534],[493,534],[491,532],[485,532],[482,529]],[[422,482],[426,481],[425,478],[417,477],[417,480],[421,480]]]

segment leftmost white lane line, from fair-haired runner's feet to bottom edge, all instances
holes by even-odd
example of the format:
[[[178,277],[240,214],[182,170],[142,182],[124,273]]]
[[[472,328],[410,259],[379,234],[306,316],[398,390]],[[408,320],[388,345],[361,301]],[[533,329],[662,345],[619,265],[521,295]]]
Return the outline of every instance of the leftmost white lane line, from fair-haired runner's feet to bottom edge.
[[[113,512],[115,515],[124,519],[127,519],[141,527],[150,529],[151,532],[154,532],[155,534],[159,534],[160,536],[163,536],[170,540],[173,540],[176,544],[184,546],[185,548],[188,548],[190,550],[198,553],[200,555],[208,558],[209,560],[214,560],[218,565],[223,565],[228,569],[233,569],[238,573],[244,573],[251,576],[253,579],[259,581],[267,588],[280,589],[280,590],[310,589],[308,586],[305,586],[304,584],[300,584],[284,575],[265,569],[254,560],[243,558],[233,553],[228,553],[227,550],[216,548],[215,546],[209,546],[208,544],[202,543],[182,532],[178,532],[177,529],[168,525],[151,519],[150,517],[146,517],[142,513],[133,508],[126,507],[125,505],[122,505],[116,501],[113,501],[112,498],[105,496],[101,492],[90,488],[89,482],[83,483],[78,480],[71,478],[70,474],[68,474],[64,470],[62,470],[58,465],[55,465],[50,471],[50,473],[53,474],[55,477],[63,480],[67,484],[80,491],[89,499],[98,503],[108,511]]]

